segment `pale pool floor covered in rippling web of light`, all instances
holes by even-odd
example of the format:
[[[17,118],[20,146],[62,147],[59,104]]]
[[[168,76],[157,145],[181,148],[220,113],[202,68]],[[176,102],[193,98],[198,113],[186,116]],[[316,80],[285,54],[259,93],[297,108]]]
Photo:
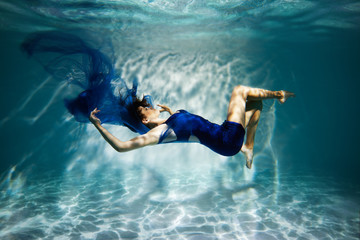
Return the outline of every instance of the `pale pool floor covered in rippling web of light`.
[[[265,172],[256,181],[228,186],[221,174],[211,183],[198,170],[158,174],[138,165],[38,179],[11,198],[2,196],[1,237],[357,238],[359,217],[351,209],[358,203],[334,197],[334,179],[303,175],[299,181],[283,174],[276,191],[272,174]]]

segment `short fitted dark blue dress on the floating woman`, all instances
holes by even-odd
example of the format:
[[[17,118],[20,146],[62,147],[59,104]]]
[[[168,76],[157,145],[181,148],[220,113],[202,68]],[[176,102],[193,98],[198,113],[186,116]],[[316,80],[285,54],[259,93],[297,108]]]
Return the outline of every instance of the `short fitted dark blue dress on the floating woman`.
[[[200,143],[223,156],[237,154],[244,142],[245,130],[236,122],[225,121],[218,125],[201,116],[180,110],[171,115],[165,122],[168,128],[160,136],[159,144],[169,136],[171,130],[176,134],[175,142],[188,142],[195,136]]]

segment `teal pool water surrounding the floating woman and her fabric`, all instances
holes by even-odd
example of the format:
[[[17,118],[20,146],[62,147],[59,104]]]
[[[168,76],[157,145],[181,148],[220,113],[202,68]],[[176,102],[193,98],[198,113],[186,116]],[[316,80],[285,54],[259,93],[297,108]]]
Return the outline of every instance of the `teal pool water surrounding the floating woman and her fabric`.
[[[356,1],[1,1],[0,238],[358,239],[359,14]],[[119,154],[67,113],[79,89],[20,51],[49,30],[217,123],[238,84],[297,97],[264,102],[251,171],[198,144]]]

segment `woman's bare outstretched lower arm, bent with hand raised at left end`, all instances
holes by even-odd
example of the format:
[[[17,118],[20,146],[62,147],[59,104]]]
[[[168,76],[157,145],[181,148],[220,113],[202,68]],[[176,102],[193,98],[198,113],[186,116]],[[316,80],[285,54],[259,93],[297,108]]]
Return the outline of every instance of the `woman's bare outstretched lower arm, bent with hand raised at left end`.
[[[89,120],[94,124],[96,129],[100,132],[103,138],[118,152],[127,152],[137,148],[145,147],[148,145],[154,145],[159,142],[159,131],[149,131],[146,134],[140,135],[129,141],[120,141],[108,130],[101,126],[101,121],[96,117],[96,114],[100,112],[97,108],[91,112]]]

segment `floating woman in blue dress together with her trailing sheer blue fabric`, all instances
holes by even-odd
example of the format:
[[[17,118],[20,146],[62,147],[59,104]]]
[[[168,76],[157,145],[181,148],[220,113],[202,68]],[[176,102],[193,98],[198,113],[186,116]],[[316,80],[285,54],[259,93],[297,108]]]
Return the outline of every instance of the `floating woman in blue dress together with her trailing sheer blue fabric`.
[[[22,49],[55,78],[66,79],[69,85],[84,90],[76,98],[65,99],[66,108],[76,121],[88,123],[90,120],[119,152],[160,143],[199,142],[223,156],[233,156],[241,151],[246,157],[246,166],[251,168],[262,100],[278,99],[285,103],[295,96],[288,91],[236,86],[227,119],[218,125],[185,110],[173,113],[164,105],[159,105],[161,110],[157,110],[150,96],[138,99],[137,79],[134,79],[133,87],[128,88],[114,69],[114,59],[76,35],[58,31],[33,33],[25,39]],[[159,118],[163,111],[170,113],[168,119]],[[142,135],[123,142],[101,123],[125,126]]]

